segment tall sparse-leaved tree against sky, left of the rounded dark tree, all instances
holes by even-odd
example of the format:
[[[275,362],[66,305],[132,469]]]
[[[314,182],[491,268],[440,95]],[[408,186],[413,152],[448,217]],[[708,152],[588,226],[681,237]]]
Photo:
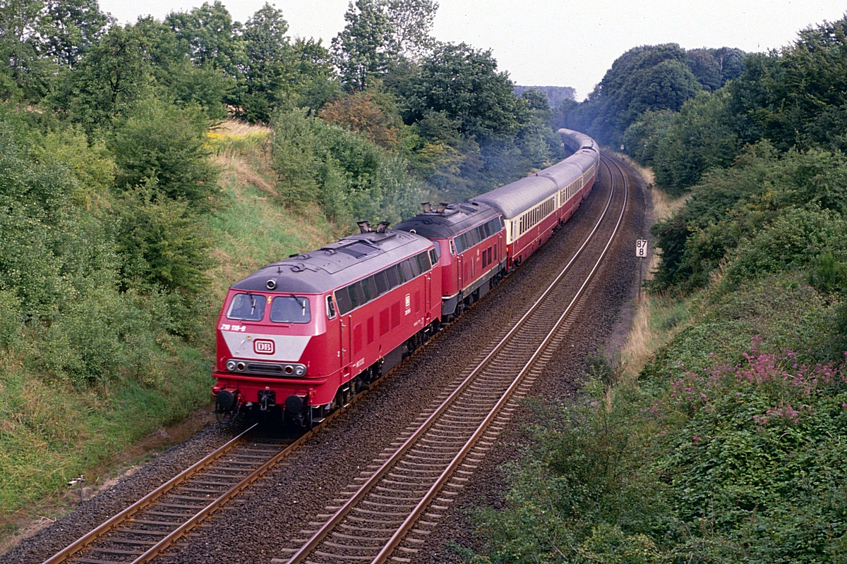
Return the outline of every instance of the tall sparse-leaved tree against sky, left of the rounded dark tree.
[[[395,57],[394,27],[385,14],[385,0],[351,2],[344,19],[347,24],[332,40],[335,65],[347,90],[365,90],[389,68]]]

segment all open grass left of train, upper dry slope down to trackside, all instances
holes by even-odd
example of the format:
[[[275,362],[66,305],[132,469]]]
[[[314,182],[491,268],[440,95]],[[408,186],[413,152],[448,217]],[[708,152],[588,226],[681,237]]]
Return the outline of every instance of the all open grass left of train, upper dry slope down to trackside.
[[[317,206],[291,211],[278,203],[269,134],[268,128],[227,120],[208,135],[225,196],[208,216],[218,266],[207,273],[212,279],[208,307],[202,308],[207,326],[213,326],[232,283],[340,234]],[[69,386],[34,370],[25,363],[25,344],[0,353],[0,552],[14,545],[21,529],[68,511],[63,496],[69,479],[84,474],[86,486],[97,489],[148,457],[151,448],[196,430],[199,424],[186,419],[197,419],[198,408],[208,410],[212,336],[208,331],[193,346],[173,339],[153,352],[161,378],[125,375],[96,388]],[[168,437],[163,428],[173,424],[184,435],[161,438]]]

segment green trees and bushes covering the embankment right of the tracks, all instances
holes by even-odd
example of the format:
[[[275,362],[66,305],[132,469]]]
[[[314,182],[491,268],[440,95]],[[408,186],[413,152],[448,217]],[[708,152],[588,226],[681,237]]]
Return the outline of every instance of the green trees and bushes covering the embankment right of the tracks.
[[[658,345],[594,363],[582,401],[534,406],[506,509],[480,511],[488,550],[468,559],[847,558],[845,31],[717,50],[712,85],[718,52],[639,47],[564,114],[684,195],[652,228],[639,315]],[[645,103],[657,75],[667,96]]]

